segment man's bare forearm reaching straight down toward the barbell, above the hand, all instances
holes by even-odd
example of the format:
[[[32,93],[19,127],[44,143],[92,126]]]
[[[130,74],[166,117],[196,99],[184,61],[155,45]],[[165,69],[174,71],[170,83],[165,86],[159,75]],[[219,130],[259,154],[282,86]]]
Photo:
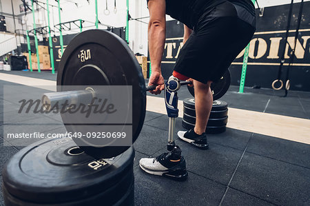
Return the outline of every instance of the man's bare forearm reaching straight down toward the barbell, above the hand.
[[[161,59],[165,46],[165,22],[154,21],[149,23],[149,56],[152,71],[161,72]]]

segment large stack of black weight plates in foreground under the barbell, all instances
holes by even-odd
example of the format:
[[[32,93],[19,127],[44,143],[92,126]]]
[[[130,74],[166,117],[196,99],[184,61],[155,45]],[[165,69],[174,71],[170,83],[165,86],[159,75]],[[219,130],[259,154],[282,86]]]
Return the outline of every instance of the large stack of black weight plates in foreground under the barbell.
[[[134,205],[134,150],[94,159],[71,138],[34,143],[3,168],[6,205]]]

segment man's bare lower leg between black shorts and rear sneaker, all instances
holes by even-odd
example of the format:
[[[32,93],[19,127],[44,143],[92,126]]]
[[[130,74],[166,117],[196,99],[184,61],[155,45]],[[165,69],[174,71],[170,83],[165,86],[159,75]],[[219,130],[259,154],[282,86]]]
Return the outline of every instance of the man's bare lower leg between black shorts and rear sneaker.
[[[212,108],[213,95],[210,85],[211,81],[204,84],[194,80],[196,110],[196,125],[194,132],[199,135],[205,132]]]

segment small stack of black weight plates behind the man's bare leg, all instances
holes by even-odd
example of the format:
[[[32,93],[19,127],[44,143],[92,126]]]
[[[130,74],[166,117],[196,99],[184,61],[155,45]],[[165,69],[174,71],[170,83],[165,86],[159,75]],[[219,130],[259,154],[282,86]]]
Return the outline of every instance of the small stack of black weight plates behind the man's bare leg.
[[[185,129],[190,130],[195,127],[196,111],[195,99],[188,98],[183,101],[183,122],[182,125]],[[225,101],[216,100],[213,102],[212,110],[207,123],[207,134],[219,134],[226,131],[228,121],[228,108]]]

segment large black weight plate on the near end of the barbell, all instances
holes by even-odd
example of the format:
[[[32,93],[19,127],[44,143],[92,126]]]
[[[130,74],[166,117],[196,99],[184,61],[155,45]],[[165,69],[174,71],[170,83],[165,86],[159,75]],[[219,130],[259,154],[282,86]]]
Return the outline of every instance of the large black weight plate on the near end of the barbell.
[[[132,85],[132,143],[136,141],[145,119],[145,81],[136,57],[123,39],[104,30],[87,30],[78,34],[63,53],[57,85]],[[70,124],[67,113],[61,117],[68,132],[94,132],[100,127],[83,122]],[[87,138],[83,142],[81,138],[74,138],[74,141],[96,158],[110,158],[128,149],[128,146],[94,147],[92,144],[87,144],[90,145],[87,147]]]

